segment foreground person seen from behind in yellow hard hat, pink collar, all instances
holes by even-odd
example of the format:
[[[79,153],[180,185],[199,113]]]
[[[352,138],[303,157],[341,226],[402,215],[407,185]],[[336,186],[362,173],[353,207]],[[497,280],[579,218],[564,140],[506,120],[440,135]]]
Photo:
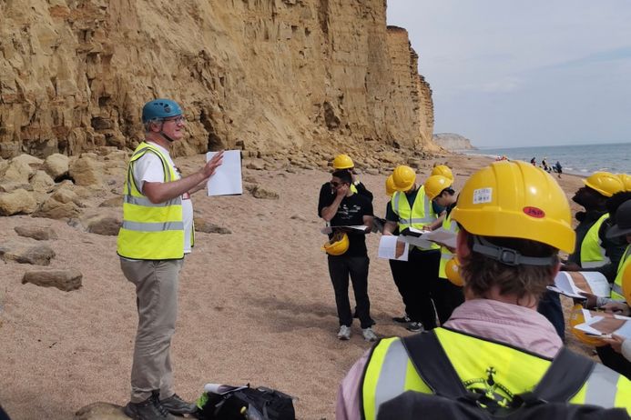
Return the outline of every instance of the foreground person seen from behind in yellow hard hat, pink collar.
[[[631,382],[565,348],[536,311],[559,250],[575,245],[555,179],[525,162],[494,162],[467,180],[452,218],[465,302],[444,327],[382,339],[362,355],[342,380],[337,418],[529,417],[534,405],[541,418],[631,413]]]

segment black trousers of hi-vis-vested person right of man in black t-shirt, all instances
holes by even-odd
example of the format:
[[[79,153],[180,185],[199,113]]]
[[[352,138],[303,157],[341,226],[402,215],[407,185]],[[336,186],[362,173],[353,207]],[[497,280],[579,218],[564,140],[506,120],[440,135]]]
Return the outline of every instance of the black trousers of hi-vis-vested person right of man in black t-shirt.
[[[441,252],[439,250],[421,251],[418,248],[413,248],[408,255],[407,262],[395,262],[394,283],[403,298],[405,313],[410,316],[412,321],[422,323],[425,329],[436,327],[436,312],[432,298],[440,287],[438,285],[440,261]]]

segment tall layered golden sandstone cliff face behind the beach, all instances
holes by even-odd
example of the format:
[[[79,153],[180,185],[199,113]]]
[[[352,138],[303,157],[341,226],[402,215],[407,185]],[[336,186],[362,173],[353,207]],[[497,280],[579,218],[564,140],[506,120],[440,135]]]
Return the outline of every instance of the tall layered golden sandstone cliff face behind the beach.
[[[384,0],[6,0],[0,156],[134,147],[172,97],[175,155],[433,150],[432,91]]]

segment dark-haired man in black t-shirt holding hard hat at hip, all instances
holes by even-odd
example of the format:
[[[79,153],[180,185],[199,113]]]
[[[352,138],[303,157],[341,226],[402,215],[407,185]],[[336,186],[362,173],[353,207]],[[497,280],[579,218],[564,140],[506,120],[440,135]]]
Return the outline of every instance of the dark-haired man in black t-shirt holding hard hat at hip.
[[[329,223],[334,235],[342,233],[323,248],[327,252],[329,275],[335,292],[340,330],[340,340],[351,338],[353,315],[349,301],[349,277],[355,293],[356,312],[360,318],[361,334],[366,341],[377,340],[372,331],[374,321],[371,318],[371,301],[368,297],[368,266],[370,260],[366,249],[365,235],[372,228],[372,203],[364,195],[351,190],[351,173],[338,169],[331,175],[329,188],[335,193],[332,202],[320,200],[318,214]],[[345,226],[365,226],[365,230]],[[336,226],[341,226],[336,228]]]

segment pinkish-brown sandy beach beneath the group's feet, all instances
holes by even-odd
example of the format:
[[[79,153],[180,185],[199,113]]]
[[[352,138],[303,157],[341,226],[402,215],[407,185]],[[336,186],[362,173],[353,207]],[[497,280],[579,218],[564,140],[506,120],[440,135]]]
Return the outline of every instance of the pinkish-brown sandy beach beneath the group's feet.
[[[181,158],[185,174],[203,156]],[[490,162],[471,155],[422,161],[419,180],[433,162],[446,163],[459,190],[467,175]],[[369,347],[356,323],[348,342],[337,340],[337,315],[326,256],[326,237],[317,215],[324,170],[295,173],[244,170],[278,200],[250,194],[193,196],[196,216],[228,228],[230,235],[198,233],[180,275],[178,326],[172,345],[178,394],[196,399],[209,382],[267,385],[298,398],[300,419],[334,418],[343,375]],[[384,175],[361,174],[373,192],[375,215],[383,216]],[[568,199],[580,178],[559,180]],[[117,187],[122,183],[122,174]],[[109,189],[87,200],[98,208]],[[573,205],[573,211],[577,208]],[[59,236],[47,241],[56,253],[51,268],[76,268],[83,286],[76,291],[22,285],[33,266],[3,263],[0,276],[0,404],[15,420],[71,419],[95,402],[127,403],[133,340],[137,325],[133,286],[120,271],[116,236],[84,232],[62,220],[26,215],[0,217],[3,241],[16,240],[15,226],[51,226]],[[24,239],[24,238],[21,238]],[[409,334],[391,317],[402,301],[387,261],[377,258],[379,235],[369,235],[371,315],[380,337]],[[351,294],[352,295],[352,294]],[[565,304],[568,304],[565,302]],[[585,351],[568,333],[568,344]]]

